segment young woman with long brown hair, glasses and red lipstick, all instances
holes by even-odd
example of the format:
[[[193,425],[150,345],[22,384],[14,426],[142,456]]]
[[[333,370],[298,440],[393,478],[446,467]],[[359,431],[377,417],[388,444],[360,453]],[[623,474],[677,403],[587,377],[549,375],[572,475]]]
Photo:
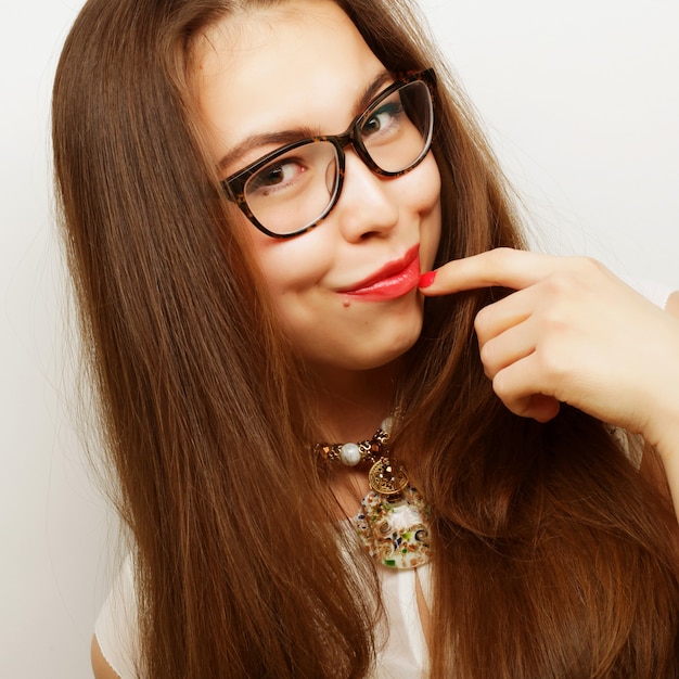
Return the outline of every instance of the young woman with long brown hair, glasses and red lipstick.
[[[53,114],[98,677],[677,676],[679,304],[522,249],[406,0],[90,0]]]

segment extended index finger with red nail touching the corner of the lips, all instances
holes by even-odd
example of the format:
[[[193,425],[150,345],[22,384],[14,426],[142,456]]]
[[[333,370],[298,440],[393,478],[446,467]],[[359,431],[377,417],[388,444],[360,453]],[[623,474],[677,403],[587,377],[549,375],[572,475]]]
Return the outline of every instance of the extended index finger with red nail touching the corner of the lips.
[[[432,296],[494,286],[523,290],[553,271],[554,259],[540,253],[498,247],[424,273],[420,290]]]

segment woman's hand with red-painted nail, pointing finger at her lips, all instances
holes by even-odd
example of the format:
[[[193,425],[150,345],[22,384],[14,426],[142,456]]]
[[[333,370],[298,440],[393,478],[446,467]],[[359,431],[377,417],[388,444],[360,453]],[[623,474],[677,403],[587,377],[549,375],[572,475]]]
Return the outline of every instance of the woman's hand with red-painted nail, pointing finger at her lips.
[[[591,259],[505,248],[451,261],[421,290],[491,285],[516,291],[475,323],[485,372],[512,412],[545,422],[567,402],[642,434],[665,462],[679,458],[679,319]]]

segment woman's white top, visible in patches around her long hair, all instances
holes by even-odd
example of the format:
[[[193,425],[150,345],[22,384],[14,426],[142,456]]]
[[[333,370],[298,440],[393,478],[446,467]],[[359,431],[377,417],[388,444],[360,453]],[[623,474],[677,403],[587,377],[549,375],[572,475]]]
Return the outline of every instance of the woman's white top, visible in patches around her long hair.
[[[633,287],[659,307],[665,307],[672,290],[646,281]],[[427,652],[418,608],[418,580],[424,599],[431,601],[430,566],[418,568],[379,567],[386,613],[376,630],[377,664],[371,679],[422,679],[426,677]],[[101,651],[121,677],[139,679],[134,664],[137,645],[137,603],[131,563],[123,567],[97,620],[94,633]]]

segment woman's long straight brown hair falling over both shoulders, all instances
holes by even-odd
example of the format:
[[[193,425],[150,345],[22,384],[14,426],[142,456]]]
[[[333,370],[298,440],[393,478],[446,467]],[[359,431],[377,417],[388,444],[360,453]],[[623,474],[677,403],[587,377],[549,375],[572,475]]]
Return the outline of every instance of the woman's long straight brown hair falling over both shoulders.
[[[310,462],[309,384],[230,227],[193,104],[196,36],[276,0],[90,0],[64,48],[53,140],[69,264],[148,677],[361,677],[374,573],[351,563]],[[524,245],[470,107],[408,0],[338,0],[394,72],[434,65],[439,262]],[[427,300],[399,454],[433,509],[433,676],[671,677],[671,513],[602,423],[511,415],[475,313]],[[413,451],[419,451],[415,456]]]

